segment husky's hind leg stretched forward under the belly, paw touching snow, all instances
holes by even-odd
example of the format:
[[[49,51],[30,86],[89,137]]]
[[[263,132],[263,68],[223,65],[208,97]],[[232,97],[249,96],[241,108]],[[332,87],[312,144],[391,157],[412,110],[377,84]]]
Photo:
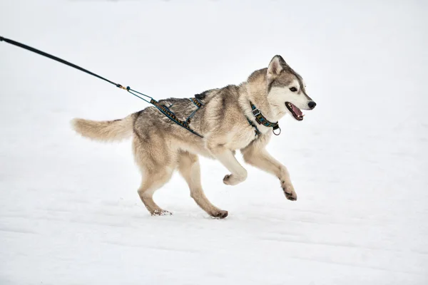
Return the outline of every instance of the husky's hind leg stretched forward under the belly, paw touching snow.
[[[189,152],[180,152],[178,170],[189,185],[190,197],[195,200],[199,207],[212,217],[219,219],[228,217],[228,211],[218,209],[205,196],[202,185],[200,185],[200,166],[197,155],[190,154]]]

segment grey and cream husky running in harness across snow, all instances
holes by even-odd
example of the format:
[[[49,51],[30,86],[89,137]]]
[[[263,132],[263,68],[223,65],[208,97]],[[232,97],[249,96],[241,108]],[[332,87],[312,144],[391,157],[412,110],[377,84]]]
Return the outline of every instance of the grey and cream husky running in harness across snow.
[[[247,170],[236,160],[235,150],[240,150],[248,164],[279,178],[285,197],[295,201],[297,195],[287,168],[265,147],[275,125],[269,122],[277,122],[285,114],[303,120],[301,109],[315,108],[302,77],[281,56],[274,56],[267,68],[253,72],[239,86],[207,90],[195,98],[200,106],[194,98],[170,98],[158,103],[176,118],[188,118],[190,128],[198,135],[181,128],[156,107],[121,120],[73,119],[72,125],[77,133],[93,140],[133,138],[134,157],[143,175],[138,195],[152,215],[171,214],[153,201],[153,194],[178,170],[188,183],[190,197],[205,212],[215,218],[227,217],[227,211],[215,207],[205,197],[198,155],[220,161],[230,172],[223,183],[237,185],[247,178]]]

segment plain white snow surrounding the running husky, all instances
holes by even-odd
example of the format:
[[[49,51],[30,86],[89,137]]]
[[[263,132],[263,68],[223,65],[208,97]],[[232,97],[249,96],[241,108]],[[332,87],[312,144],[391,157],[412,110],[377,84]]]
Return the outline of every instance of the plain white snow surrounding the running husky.
[[[277,53],[317,108],[284,118],[275,177],[223,185],[202,160],[208,217],[175,175],[150,217],[131,143],[71,118],[146,103],[0,43],[0,284],[428,284],[424,1],[0,1],[1,36],[155,98],[240,83]]]

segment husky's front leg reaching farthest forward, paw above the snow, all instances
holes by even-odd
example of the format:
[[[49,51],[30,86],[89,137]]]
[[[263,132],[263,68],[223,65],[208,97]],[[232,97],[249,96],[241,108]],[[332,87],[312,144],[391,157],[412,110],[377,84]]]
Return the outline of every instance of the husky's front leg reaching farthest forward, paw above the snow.
[[[287,199],[292,201],[297,200],[297,194],[292,186],[287,167],[275,160],[265,148],[260,149],[257,145],[250,145],[241,150],[241,152],[243,153],[245,162],[279,178],[282,190]]]

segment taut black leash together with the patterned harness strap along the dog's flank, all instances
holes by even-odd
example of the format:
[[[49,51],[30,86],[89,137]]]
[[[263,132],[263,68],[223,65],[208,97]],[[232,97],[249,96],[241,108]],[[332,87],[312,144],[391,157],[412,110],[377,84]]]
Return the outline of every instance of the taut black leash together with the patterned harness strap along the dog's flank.
[[[183,121],[183,120],[179,120],[178,118],[177,118],[177,116],[170,110],[170,109],[168,109],[168,107],[166,107],[165,105],[161,105],[160,103],[158,103],[158,101],[156,101],[155,99],[153,99],[153,98],[151,98],[150,96],[148,96],[148,95],[146,95],[146,94],[143,94],[143,93],[140,93],[140,92],[138,92],[138,91],[136,91],[136,90],[133,90],[133,89],[131,89],[129,86],[127,86],[127,87],[123,87],[121,84],[119,84],[119,83],[114,83],[113,81],[109,81],[107,78],[103,78],[102,76],[98,76],[98,74],[96,74],[96,73],[93,73],[93,72],[91,72],[91,71],[88,71],[87,69],[85,69],[85,68],[81,68],[80,66],[76,66],[76,64],[73,64],[73,63],[70,63],[70,62],[68,62],[68,61],[64,61],[62,58],[58,58],[58,57],[56,57],[56,56],[52,56],[51,54],[49,54],[49,53],[45,53],[44,51],[40,51],[40,50],[38,50],[37,48],[32,48],[31,46],[27,46],[27,45],[25,45],[24,43],[19,43],[19,42],[17,42],[17,41],[14,41],[14,40],[11,40],[10,38],[4,38],[3,36],[0,36],[0,41],[4,41],[4,42],[6,42],[6,43],[10,43],[11,45],[14,45],[14,46],[19,46],[20,48],[24,48],[24,49],[26,49],[27,51],[32,51],[32,52],[34,52],[34,53],[37,53],[37,54],[39,54],[39,55],[41,55],[41,56],[45,56],[46,58],[51,58],[51,59],[53,59],[54,61],[58,61],[58,62],[60,62],[60,63],[63,63],[63,64],[65,64],[66,66],[71,66],[71,67],[73,67],[73,68],[76,68],[76,69],[78,69],[79,71],[83,71],[83,72],[85,72],[85,73],[88,73],[88,74],[90,74],[91,76],[95,76],[96,78],[100,78],[100,79],[102,79],[103,81],[106,81],[106,82],[108,82],[108,83],[111,83],[111,84],[113,84],[114,86],[116,86],[116,87],[118,87],[118,88],[121,88],[121,89],[123,89],[123,90],[127,90],[129,93],[131,93],[132,95],[134,95],[134,96],[136,96],[136,97],[138,97],[138,98],[140,98],[141,100],[145,100],[147,103],[151,103],[152,105],[154,105],[156,108],[158,108],[158,110],[160,110],[161,111],[161,113],[163,113],[163,115],[165,115],[165,116],[167,116],[170,120],[172,120],[174,123],[176,123],[177,125],[180,125],[181,127],[183,127],[183,128],[185,128],[186,130],[188,130],[190,133],[193,133],[193,134],[195,134],[195,135],[198,135],[200,138],[203,138],[203,136],[202,135],[199,135],[198,133],[196,133],[194,130],[192,130],[191,128],[190,128],[190,126],[189,126],[189,124],[188,124],[188,122],[185,122],[185,121]],[[139,96],[139,95],[137,95],[137,94],[139,94],[139,95],[143,95],[143,96],[145,96],[146,98],[148,98],[148,99],[145,99],[145,98],[142,98],[141,96]]]

